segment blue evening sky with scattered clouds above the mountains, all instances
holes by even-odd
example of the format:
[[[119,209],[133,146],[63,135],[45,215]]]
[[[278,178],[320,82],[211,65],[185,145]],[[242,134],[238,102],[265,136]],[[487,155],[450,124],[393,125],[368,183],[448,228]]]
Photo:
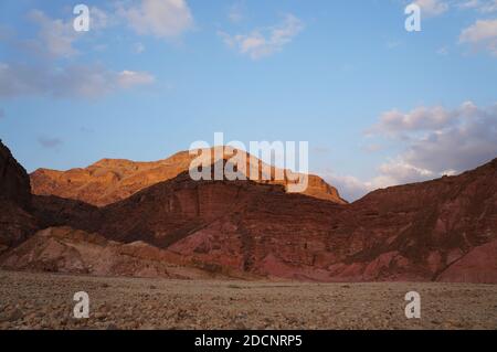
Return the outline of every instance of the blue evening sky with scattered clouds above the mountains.
[[[457,174],[497,157],[497,0],[414,3],[3,0],[0,138],[29,172],[308,141],[350,201]]]

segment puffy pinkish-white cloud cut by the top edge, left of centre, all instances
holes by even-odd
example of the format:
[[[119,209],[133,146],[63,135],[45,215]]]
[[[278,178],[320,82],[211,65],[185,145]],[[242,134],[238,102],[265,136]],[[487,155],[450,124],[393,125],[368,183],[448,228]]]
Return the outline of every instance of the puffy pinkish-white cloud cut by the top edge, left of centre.
[[[121,8],[119,12],[138,34],[175,38],[193,25],[184,0],[141,0],[139,7]]]

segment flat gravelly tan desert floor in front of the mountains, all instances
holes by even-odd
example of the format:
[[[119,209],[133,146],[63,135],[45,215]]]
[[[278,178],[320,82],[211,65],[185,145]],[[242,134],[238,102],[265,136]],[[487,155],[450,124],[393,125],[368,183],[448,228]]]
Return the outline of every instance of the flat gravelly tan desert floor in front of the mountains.
[[[408,291],[421,319],[406,319]],[[89,319],[73,318],[77,291]],[[165,280],[0,271],[0,329],[497,329],[497,286]]]

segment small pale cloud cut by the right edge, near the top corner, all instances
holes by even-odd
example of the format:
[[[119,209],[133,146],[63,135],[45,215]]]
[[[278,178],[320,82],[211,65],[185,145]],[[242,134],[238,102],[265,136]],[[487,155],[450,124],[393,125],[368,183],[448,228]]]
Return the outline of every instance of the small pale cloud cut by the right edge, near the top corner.
[[[459,35],[461,43],[469,43],[474,46],[484,46],[497,56],[497,19],[478,20],[463,30]]]

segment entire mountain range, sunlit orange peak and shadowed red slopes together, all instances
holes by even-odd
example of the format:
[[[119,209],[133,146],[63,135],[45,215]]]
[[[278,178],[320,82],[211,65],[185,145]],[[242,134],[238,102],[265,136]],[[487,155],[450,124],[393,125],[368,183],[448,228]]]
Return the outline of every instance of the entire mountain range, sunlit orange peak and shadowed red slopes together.
[[[7,269],[497,282],[497,159],[349,204],[316,175],[302,194],[286,179],[193,181],[189,152],[31,175],[3,145],[0,158]]]

